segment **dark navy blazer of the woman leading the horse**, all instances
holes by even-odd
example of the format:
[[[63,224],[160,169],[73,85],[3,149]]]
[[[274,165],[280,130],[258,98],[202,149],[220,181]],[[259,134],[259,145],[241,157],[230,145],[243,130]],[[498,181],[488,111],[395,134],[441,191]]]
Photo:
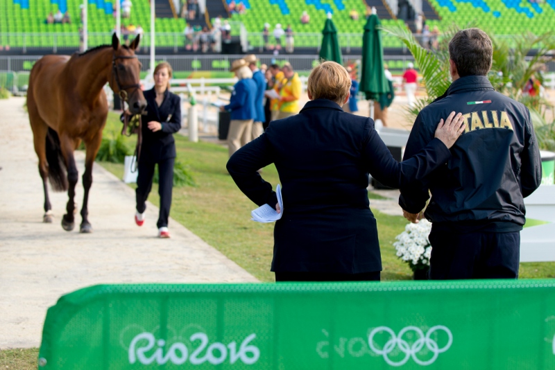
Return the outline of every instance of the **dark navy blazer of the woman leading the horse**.
[[[140,161],[158,162],[176,157],[176,143],[173,133],[181,128],[181,99],[168,90],[164,92],[164,100],[160,107],[156,104],[156,91],[143,92],[146,99],[146,112],[142,116],[143,143]],[[152,132],[148,122],[162,123],[162,130]]]

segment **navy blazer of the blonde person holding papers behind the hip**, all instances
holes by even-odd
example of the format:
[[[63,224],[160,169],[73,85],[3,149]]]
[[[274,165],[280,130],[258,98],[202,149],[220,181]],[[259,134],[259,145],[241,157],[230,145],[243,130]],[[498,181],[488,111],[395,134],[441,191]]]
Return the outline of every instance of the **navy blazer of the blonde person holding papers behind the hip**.
[[[372,119],[318,99],[296,116],[273,121],[227,167],[250,200],[273,207],[272,185],[257,170],[271,163],[278,169],[284,213],[275,222],[272,271],[357,274],[382,270],[368,173],[386,186],[407,188],[449,158],[434,139],[400,164]]]

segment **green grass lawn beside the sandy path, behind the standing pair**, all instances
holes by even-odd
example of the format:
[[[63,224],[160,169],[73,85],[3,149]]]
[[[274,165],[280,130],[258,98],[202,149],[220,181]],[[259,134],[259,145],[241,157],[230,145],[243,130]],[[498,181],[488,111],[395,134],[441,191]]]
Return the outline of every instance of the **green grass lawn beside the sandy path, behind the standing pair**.
[[[117,114],[110,113],[105,135],[118,134],[121,123]],[[239,191],[227,170],[228,151],[212,143],[191,143],[186,137],[176,134],[178,161],[189,164],[198,185],[173,189],[171,217],[183,224],[194,234],[203,238],[220,252],[235,261],[261,281],[274,281],[270,270],[273,249],[273,224],[250,221],[250,211],[256,207]],[[126,138],[130,147],[135,137]],[[123,165],[101,163],[104,168],[123,177]],[[273,165],[264,168],[266,181],[278,184],[278,173]],[[370,193],[373,199],[385,199]],[[151,196],[153,204],[160,201],[154,184]],[[400,234],[406,220],[373,211],[378,224],[379,244],[382,248],[382,280],[411,279],[411,270],[395,256],[393,242]],[[132,217],[132,215],[130,215]],[[170,225],[171,227],[171,225]],[[153,230],[153,233],[155,230]],[[520,276],[524,279],[555,277],[555,263],[522,263]]]

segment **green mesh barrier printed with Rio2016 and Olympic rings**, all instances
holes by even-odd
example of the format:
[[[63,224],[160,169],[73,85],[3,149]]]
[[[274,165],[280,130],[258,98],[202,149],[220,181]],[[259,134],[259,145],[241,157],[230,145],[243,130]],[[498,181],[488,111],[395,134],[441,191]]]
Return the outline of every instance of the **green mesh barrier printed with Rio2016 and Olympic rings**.
[[[555,281],[98,285],[39,369],[555,369]]]

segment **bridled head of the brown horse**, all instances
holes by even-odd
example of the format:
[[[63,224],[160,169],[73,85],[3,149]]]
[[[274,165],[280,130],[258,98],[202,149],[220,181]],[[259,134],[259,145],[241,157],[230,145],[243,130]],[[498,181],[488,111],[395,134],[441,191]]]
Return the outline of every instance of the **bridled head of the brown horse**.
[[[146,108],[146,100],[140,85],[142,64],[135,55],[140,38],[140,35],[137,35],[129,46],[121,46],[117,35],[114,33],[112,36],[114,57],[108,83],[115,94],[127,101],[129,110],[133,114],[140,114]]]

